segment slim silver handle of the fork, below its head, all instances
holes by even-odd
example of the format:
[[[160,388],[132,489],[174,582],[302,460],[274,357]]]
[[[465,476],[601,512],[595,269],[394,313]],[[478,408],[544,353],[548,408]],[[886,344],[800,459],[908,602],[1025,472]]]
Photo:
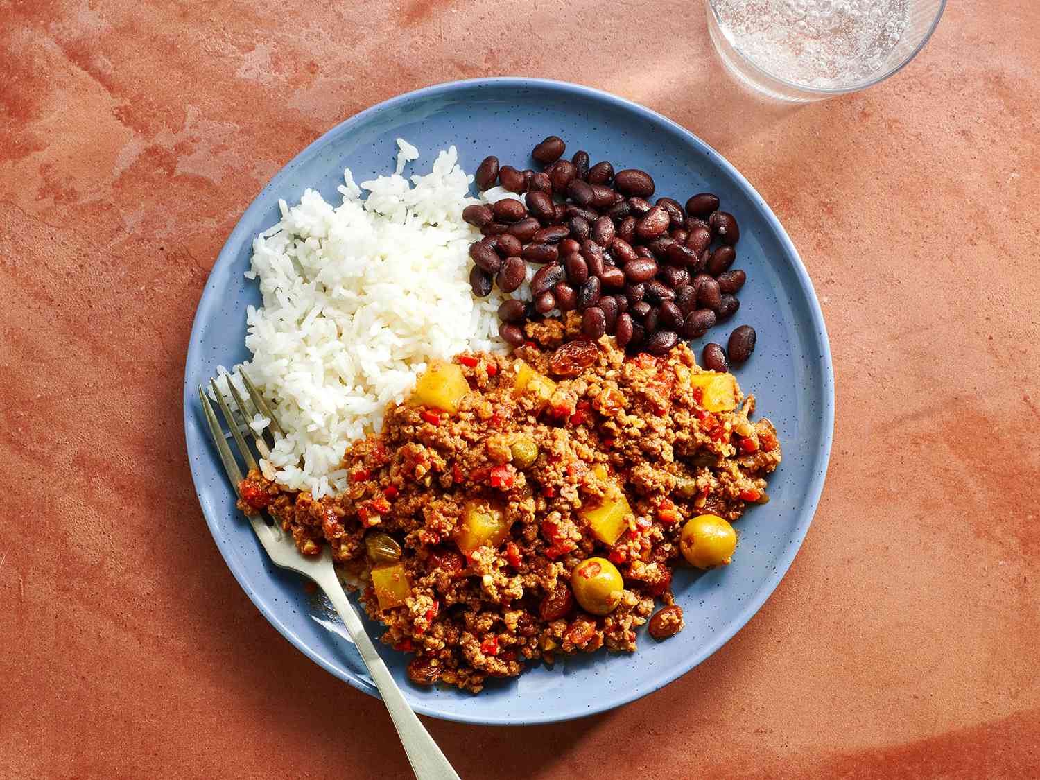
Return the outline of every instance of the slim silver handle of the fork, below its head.
[[[350,634],[358,652],[361,653],[361,659],[365,661],[375,687],[380,690],[380,696],[383,697],[383,703],[390,711],[390,718],[397,729],[397,736],[400,737],[400,744],[405,747],[405,752],[408,754],[408,760],[412,764],[412,771],[416,778],[418,780],[460,780],[459,775],[448,763],[448,759],[437,747],[434,737],[430,735],[422,722],[409,706],[408,701],[405,700],[405,695],[394,681],[387,665],[375,652],[375,647],[368,638],[368,632],[365,631],[361,618],[347,601],[343,587],[335,574],[323,577],[322,580],[318,580],[317,584],[336,607],[339,617],[343,619],[347,633]]]

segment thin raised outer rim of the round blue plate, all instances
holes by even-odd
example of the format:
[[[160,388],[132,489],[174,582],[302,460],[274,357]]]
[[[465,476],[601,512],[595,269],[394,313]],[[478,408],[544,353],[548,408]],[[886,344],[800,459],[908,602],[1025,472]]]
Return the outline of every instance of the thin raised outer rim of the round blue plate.
[[[252,237],[252,233],[246,231],[243,227],[246,223],[246,217],[264,210],[267,207],[261,207],[260,202],[268,190],[275,188],[281,184],[282,179],[288,175],[295,164],[312,155],[316,154],[326,145],[328,145],[333,137],[338,137],[341,133],[349,130],[349,127],[363,122],[365,119],[380,113],[382,111],[392,109],[398,104],[408,103],[410,101],[434,97],[443,93],[450,93],[457,89],[466,89],[472,87],[482,86],[497,86],[497,87],[515,87],[515,88],[529,88],[529,87],[542,87],[548,88],[550,90],[558,90],[564,94],[570,94],[575,96],[580,96],[586,99],[592,99],[595,101],[603,102],[612,107],[620,107],[627,109],[629,111],[634,111],[636,114],[641,115],[643,119],[664,123],[666,126],[670,127],[672,130],[677,131],[682,136],[685,136],[687,142],[692,144],[699,151],[705,151],[710,155],[713,155],[717,164],[720,165],[724,171],[726,171],[736,182],[736,184],[746,190],[746,192],[752,197],[754,200],[763,207],[763,216],[770,227],[775,231],[778,236],[781,245],[794,259],[791,263],[792,270],[795,271],[796,279],[799,285],[807,293],[807,300],[809,305],[809,311],[811,315],[811,321],[813,328],[818,334],[818,339],[822,345],[822,353],[820,355],[820,363],[822,368],[823,378],[823,428],[824,437],[818,444],[817,451],[821,454],[820,458],[820,468],[812,475],[812,478],[808,486],[807,500],[803,504],[801,510],[801,518],[798,525],[795,527],[795,532],[788,541],[786,548],[780,554],[778,558],[777,566],[774,567],[770,576],[765,578],[763,584],[756,592],[754,598],[752,598],[744,608],[737,613],[730,621],[727,628],[720,633],[712,636],[711,641],[708,642],[701,650],[701,652],[692,655],[688,665],[679,665],[673,667],[673,669],[679,669],[674,676],[667,679],[665,682],[658,685],[650,685],[644,688],[635,687],[630,692],[616,696],[613,699],[608,699],[602,704],[597,704],[584,711],[573,712],[569,714],[557,716],[553,713],[536,713],[526,714],[519,719],[509,719],[509,718],[476,718],[473,716],[467,716],[465,713],[449,712],[439,709],[436,705],[431,706],[421,701],[415,701],[411,699],[409,704],[412,708],[419,714],[428,716],[431,718],[437,718],[444,721],[450,721],[454,723],[466,723],[472,725],[488,725],[488,726],[526,726],[526,725],[540,725],[547,723],[564,723],[571,720],[577,720],[580,718],[587,718],[599,712],[604,712],[610,709],[628,704],[636,699],[641,699],[644,696],[648,696],[666,685],[671,684],[675,680],[679,679],[683,675],[691,672],[694,668],[700,666],[704,660],[713,655],[719,651],[726,643],[728,643],[736,633],[744,628],[748,622],[758,613],[765,601],[773,595],[777,587],[786,576],[790,565],[795,561],[795,556],[798,551],[802,548],[802,543],[805,541],[805,537],[808,534],[809,525],[811,525],[813,518],[815,517],[816,510],[820,505],[820,497],[823,494],[824,484],[827,478],[827,471],[830,466],[831,448],[834,440],[834,367],[831,359],[831,346],[830,338],[827,333],[827,324],[824,320],[823,310],[820,306],[820,300],[816,296],[815,288],[812,285],[812,280],[809,278],[809,272],[802,261],[802,257],[795,246],[794,241],[791,241],[790,236],[787,235],[787,231],[784,229],[780,219],[773,212],[772,207],[766,203],[765,199],[761,197],[757,189],[745,178],[745,176],[736,170],[736,167],[729,162],[722,154],[720,154],[713,147],[708,145],[698,135],[678,124],[677,122],[669,119],[668,116],[648,108],[640,103],[636,103],[627,98],[622,98],[617,95],[604,92],[602,89],[597,89],[591,86],[584,86],[582,84],[575,84],[568,81],[558,81],[555,79],[543,79],[543,78],[527,78],[519,76],[496,76],[496,77],[486,77],[486,78],[473,78],[473,79],[460,79],[456,81],[445,81],[437,84],[431,84],[428,86],[423,86],[418,89],[413,89],[411,92],[401,93],[399,95],[388,98],[381,101],[368,108],[365,108],[358,113],[352,114],[342,122],[331,127],[329,130],[324,131],[321,135],[315,138],[313,141],[308,144],[304,149],[302,149],[297,154],[295,154],[288,162],[286,162],[279,171],[270,178],[270,180],[260,189],[256,194],[250,205],[238,217],[235,227],[232,229],[228,238],[225,240],[224,245],[220,248],[220,252],[217,254],[216,259],[213,261],[209,274],[206,277],[206,283],[203,285],[202,293],[200,294],[199,302],[196,304],[196,313],[191,321],[191,332],[188,337],[188,347],[184,360],[184,376],[183,376],[183,424],[184,424],[184,444],[185,452],[188,458],[188,468],[191,472],[191,482],[194,489],[196,498],[199,501],[200,509],[202,510],[203,517],[206,519],[206,525],[209,528],[210,536],[213,538],[217,549],[220,552],[220,556],[224,558],[225,564],[228,569],[231,570],[232,575],[238,582],[239,587],[244,591],[245,595],[249,596],[250,601],[253,605],[257,607],[261,615],[267,620],[267,622],[278,630],[291,645],[293,645],[297,650],[304,653],[308,658],[317,664],[319,667],[324,669],[327,672],[332,674],[337,679],[346,682],[354,688],[361,691],[374,698],[380,698],[379,691],[373,686],[369,686],[365,682],[359,679],[355,679],[348,675],[340,674],[340,671],[328,664],[318,653],[311,649],[311,647],[304,642],[300,636],[297,636],[282,620],[274,613],[274,610],[267,608],[266,603],[258,598],[254,588],[250,584],[248,579],[248,574],[244,569],[234,562],[233,557],[230,555],[226,547],[230,547],[230,543],[222,538],[218,534],[218,528],[216,525],[215,518],[210,516],[210,512],[207,511],[206,502],[203,500],[202,492],[200,489],[200,483],[202,482],[201,473],[197,473],[196,459],[193,458],[193,452],[190,449],[188,443],[188,425],[200,424],[198,420],[198,411],[193,408],[194,391],[188,387],[188,370],[189,366],[193,362],[194,350],[197,349],[197,344],[199,343],[198,336],[200,330],[203,328],[202,321],[202,301],[206,295],[206,289],[209,284],[209,279],[213,274],[213,270],[224,262],[231,262],[227,259],[228,257],[233,257],[239,251],[242,245],[243,234],[250,233],[249,238]],[[201,467],[200,467],[201,471]],[[685,666],[685,668],[682,668]]]

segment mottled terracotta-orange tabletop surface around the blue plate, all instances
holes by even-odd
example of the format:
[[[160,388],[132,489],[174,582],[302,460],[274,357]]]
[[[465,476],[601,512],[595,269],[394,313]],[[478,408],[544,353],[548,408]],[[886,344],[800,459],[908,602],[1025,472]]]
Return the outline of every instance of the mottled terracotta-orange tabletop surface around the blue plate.
[[[460,774],[1040,776],[1040,4],[953,0],[896,77],[801,108],[734,89],[698,0],[0,19],[0,777],[407,776],[382,705],[225,567],[182,366],[282,164],[385,98],[502,74],[631,98],[747,175],[816,285],[838,412],[805,546],[747,628],[601,717],[430,721]]]

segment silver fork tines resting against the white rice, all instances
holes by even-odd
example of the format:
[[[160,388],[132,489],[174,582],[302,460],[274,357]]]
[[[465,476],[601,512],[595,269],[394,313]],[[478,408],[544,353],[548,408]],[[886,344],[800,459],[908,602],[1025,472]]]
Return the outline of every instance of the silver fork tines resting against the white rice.
[[[282,426],[278,424],[278,419],[270,411],[270,407],[267,406],[267,401],[264,400],[263,396],[257,390],[256,385],[253,384],[253,381],[250,379],[249,374],[242,370],[241,366],[238,367],[237,374],[242,380],[242,386],[245,388],[245,392],[249,395],[250,400],[253,404],[253,409],[256,413],[270,420],[268,428],[284,436]],[[224,378],[227,382],[231,397],[235,402],[235,407],[238,410],[238,414],[241,415],[241,420],[239,420],[238,416],[236,416],[231,410],[227,398],[217,385],[216,379],[211,379],[209,381],[210,390],[216,398],[216,404],[220,408],[220,414],[224,417],[224,421],[228,425],[228,430],[231,432],[232,438],[235,440],[235,444],[238,447],[238,451],[241,454],[242,460],[245,462],[246,469],[256,469],[258,468],[257,460],[253,454],[253,450],[250,448],[244,437],[242,436],[242,428],[252,435],[257,452],[261,458],[267,458],[267,456],[270,454],[270,447],[274,443],[274,433],[271,434],[271,444],[268,444],[267,440],[264,438],[263,432],[257,433],[253,426],[250,425],[250,418],[252,415],[250,414],[249,408],[246,407],[241,393],[238,391],[238,388],[235,387],[234,374],[225,373]],[[231,480],[231,484],[237,493],[238,484],[242,480],[242,472],[238,467],[238,462],[235,460],[235,456],[232,452],[231,447],[228,446],[228,439],[224,434],[224,430],[220,426],[216,413],[213,411],[213,407],[209,402],[209,398],[207,397],[206,391],[203,389],[202,385],[199,386],[199,400],[202,402],[202,409],[206,416],[209,434],[213,439],[213,446],[216,447],[216,450],[220,456],[220,462],[224,464],[224,470],[227,472],[228,478]]]

